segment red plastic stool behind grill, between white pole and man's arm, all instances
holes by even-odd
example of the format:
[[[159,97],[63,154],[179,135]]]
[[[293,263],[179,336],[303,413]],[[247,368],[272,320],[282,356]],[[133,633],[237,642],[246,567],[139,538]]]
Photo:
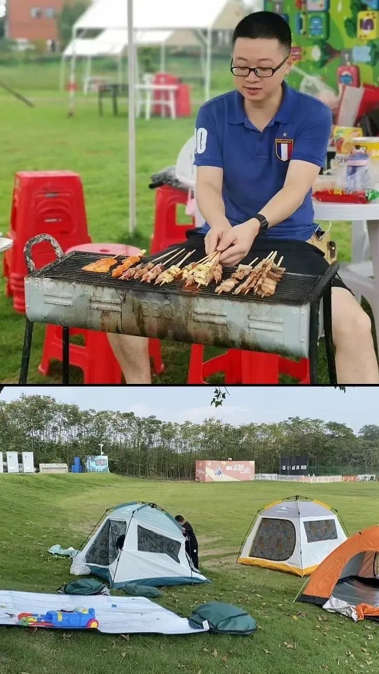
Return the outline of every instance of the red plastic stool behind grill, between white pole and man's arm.
[[[154,231],[151,239],[151,254],[181,243],[185,239],[188,229],[195,229],[195,218],[187,224],[178,224],[176,220],[176,207],[178,204],[186,206],[188,194],[182,189],[163,185],[156,189],[156,214],[154,218]]]

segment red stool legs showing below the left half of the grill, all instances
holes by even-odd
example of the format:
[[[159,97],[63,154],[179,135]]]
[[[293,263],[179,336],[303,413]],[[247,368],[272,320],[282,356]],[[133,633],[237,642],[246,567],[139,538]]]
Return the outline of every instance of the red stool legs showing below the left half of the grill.
[[[84,345],[70,344],[69,362],[83,370],[84,384],[120,384],[123,372],[114,356],[108,338],[104,332],[95,330],[81,330],[71,328],[71,336],[82,336]],[[149,340],[149,356],[153,361],[153,369],[156,374],[164,371],[162,363],[160,340]],[[47,326],[44,338],[42,360],[38,372],[48,374],[52,360],[62,361],[62,328],[60,326]]]

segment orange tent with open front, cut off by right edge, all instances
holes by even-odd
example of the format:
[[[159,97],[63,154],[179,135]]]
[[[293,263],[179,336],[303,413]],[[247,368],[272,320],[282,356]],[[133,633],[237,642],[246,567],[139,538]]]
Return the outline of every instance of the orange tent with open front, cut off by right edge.
[[[379,526],[341,543],[312,573],[298,601],[331,610],[337,610],[333,602],[342,603],[355,620],[379,620]]]

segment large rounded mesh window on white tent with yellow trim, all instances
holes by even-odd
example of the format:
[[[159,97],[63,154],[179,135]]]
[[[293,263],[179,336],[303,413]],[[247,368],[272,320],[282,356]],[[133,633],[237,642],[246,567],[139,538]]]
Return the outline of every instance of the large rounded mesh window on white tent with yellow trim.
[[[250,557],[284,561],[294,553],[296,531],[289,520],[263,517],[252,541]]]

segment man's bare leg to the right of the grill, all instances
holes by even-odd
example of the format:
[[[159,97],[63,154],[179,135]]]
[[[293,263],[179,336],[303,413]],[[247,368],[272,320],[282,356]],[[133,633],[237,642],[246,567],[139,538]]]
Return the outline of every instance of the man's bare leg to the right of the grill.
[[[370,317],[345,288],[332,288],[332,325],[339,384],[379,384]]]

